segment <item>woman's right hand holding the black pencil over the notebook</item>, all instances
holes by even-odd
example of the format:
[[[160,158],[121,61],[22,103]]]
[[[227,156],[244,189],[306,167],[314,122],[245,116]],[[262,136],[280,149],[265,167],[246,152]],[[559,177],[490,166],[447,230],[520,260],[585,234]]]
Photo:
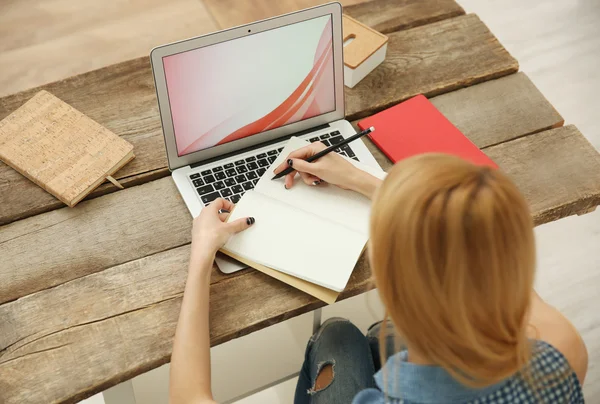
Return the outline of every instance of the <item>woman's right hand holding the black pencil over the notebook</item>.
[[[297,172],[307,185],[319,185],[322,182],[328,182],[371,198],[381,180],[359,170],[339,154],[329,153],[312,163],[304,161],[324,149],[326,149],[326,146],[321,142],[311,143],[290,153],[286,161],[277,167],[274,172],[275,174],[280,173],[288,166],[296,170],[285,177],[285,187],[287,189],[294,185],[294,177]]]

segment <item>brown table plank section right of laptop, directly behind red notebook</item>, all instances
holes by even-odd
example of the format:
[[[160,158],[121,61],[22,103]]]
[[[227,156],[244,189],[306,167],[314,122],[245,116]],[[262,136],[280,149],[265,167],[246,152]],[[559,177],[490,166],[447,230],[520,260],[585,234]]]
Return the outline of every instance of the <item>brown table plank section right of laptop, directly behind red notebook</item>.
[[[517,61],[474,14],[388,36],[383,63],[356,87],[346,88],[350,120],[417,94],[433,97],[519,70]]]

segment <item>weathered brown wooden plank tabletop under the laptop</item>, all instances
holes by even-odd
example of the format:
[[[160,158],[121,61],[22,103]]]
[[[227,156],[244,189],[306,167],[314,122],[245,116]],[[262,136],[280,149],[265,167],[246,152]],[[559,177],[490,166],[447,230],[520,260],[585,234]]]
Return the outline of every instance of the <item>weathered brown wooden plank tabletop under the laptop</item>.
[[[346,89],[350,120],[423,93],[525,194],[536,224],[600,203],[600,155],[476,15],[453,0],[345,12],[389,35],[386,61]],[[135,147],[71,209],[0,163],[0,402],[75,402],[169,361],[191,220],[164,151],[148,58],[45,85]],[[0,119],[39,88],[0,99]],[[380,164],[390,163],[367,141]],[[363,256],[340,299],[369,290]],[[321,307],[262,273],[211,279],[218,345]]]

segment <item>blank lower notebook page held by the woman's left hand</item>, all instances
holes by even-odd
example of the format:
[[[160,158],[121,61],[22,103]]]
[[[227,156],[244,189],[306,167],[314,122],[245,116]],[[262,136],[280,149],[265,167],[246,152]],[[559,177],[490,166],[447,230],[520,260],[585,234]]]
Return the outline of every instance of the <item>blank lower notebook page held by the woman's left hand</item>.
[[[224,249],[246,259],[341,292],[367,242],[367,235],[249,191],[229,221],[252,216],[256,223],[233,236]]]

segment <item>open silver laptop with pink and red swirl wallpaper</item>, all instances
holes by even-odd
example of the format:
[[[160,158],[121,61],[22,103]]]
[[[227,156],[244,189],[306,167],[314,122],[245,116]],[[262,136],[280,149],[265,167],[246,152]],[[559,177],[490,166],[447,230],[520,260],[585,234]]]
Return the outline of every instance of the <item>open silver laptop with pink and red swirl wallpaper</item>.
[[[150,60],[169,169],[193,217],[217,198],[238,202],[290,137],[329,146],[356,133],[339,3],[159,46]],[[363,142],[338,153],[379,168]]]

